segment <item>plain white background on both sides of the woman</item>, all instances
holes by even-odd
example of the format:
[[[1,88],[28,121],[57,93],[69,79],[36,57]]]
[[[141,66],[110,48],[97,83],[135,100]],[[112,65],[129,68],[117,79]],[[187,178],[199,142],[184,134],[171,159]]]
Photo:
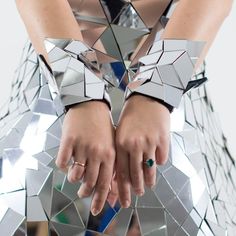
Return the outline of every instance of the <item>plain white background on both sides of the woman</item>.
[[[212,9],[214,10],[214,9]],[[10,94],[27,34],[15,1],[0,8],[0,106]],[[236,2],[207,56],[208,91],[218,112],[231,153],[236,157]]]

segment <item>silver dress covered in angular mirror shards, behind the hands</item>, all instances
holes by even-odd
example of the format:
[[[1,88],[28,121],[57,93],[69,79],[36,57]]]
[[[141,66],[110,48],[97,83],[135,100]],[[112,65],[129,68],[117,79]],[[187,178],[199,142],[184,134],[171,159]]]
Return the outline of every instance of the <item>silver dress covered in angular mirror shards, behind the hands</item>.
[[[133,62],[145,55],[149,40],[160,38],[178,1],[70,4],[107,76],[116,124],[127,79],[137,70]],[[193,79],[205,77],[202,66]],[[206,87],[186,93],[171,114],[169,159],[157,167],[157,185],[133,195],[128,209],[106,203],[94,217],[91,198],[77,197],[80,183],[70,184],[55,166],[65,113],[27,42],[0,110],[0,235],[234,236],[235,161]]]

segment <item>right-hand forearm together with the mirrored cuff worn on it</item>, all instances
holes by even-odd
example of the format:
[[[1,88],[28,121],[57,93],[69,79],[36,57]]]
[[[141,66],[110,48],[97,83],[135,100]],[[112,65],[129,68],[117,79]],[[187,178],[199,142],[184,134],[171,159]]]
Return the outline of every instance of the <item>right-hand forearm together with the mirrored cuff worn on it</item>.
[[[177,108],[184,93],[204,83],[206,78],[191,78],[229,14],[231,1],[179,0],[161,40],[161,27],[156,24],[132,62],[135,65],[138,58],[141,69],[129,82],[126,99],[136,92]],[[146,55],[140,57],[144,51]],[[149,81],[143,83],[147,78]]]

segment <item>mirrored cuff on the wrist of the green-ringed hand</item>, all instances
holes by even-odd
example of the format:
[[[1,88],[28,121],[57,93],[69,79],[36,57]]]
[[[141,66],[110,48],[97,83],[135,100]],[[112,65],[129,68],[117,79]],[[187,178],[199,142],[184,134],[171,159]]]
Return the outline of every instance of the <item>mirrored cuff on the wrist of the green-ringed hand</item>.
[[[206,81],[191,80],[203,46],[199,41],[155,41],[147,55],[139,58],[139,69],[126,87],[125,98],[139,93],[162,101],[169,111],[171,106],[177,108],[185,92]]]

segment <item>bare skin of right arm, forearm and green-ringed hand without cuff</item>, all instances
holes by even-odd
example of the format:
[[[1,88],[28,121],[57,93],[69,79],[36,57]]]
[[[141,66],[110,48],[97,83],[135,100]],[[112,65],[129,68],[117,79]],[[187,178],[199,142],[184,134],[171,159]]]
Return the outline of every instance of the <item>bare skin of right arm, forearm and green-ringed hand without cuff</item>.
[[[180,0],[162,39],[205,41],[197,63],[200,65],[229,14],[231,4],[231,0],[226,0],[223,5],[221,0]],[[125,103],[116,130],[117,183],[123,207],[130,206],[132,188],[136,194],[142,195],[145,184],[150,187],[155,184],[155,168],[142,168],[143,158],[156,158],[157,164],[167,161],[169,116],[169,111],[161,104],[141,95],[133,96]]]

